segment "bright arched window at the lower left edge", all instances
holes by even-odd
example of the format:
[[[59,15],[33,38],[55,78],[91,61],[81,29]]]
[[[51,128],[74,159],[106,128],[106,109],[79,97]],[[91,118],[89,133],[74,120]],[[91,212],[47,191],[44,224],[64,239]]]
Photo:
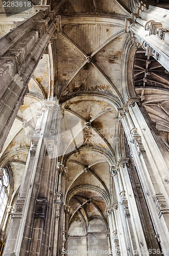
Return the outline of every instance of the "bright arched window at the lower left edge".
[[[0,170],[0,223],[3,219],[9,197],[9,175],[7,168]]]

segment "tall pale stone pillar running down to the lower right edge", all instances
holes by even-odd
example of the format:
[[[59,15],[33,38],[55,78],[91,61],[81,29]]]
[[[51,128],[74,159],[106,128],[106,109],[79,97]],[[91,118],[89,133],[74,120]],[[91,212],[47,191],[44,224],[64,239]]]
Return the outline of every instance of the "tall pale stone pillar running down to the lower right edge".
[[[134,158],[155,231],[160,236],[162,249],[168,250],[166,237],[169,223],[169,201],[168,187],[165,184],[167,183],[165,180],[168,180],[166,178],[168,168],[165,152],[162,155],[163,149],[160,148],[160,143],[136,102],[129,102],[128,107],[124,107],[124,110],[119,113],[119,119],[122,121]]]

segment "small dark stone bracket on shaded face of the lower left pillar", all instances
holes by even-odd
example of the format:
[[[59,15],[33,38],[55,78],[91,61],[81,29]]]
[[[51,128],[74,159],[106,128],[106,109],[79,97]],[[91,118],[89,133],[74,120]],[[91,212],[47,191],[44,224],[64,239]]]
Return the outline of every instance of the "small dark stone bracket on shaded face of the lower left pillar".
[[[45,219],[46,208],[47,208],[47,199],[46,198],[36,199],[35,218]]]

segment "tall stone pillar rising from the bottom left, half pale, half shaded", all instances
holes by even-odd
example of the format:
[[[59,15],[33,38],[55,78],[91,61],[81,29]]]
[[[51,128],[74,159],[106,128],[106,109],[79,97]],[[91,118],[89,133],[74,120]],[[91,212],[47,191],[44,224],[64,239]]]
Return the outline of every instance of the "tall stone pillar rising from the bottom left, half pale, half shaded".
[[[15,253],[16,256],[23,255],[28,250],[29,255],[35,253],[47,255],[53,249],[58,171],[57,157],[52,157],[52,149],[53,152],[57,149],[58,134],[54,136],[55,139],[53,138],[55,143],[53,148],[50,148],[50,157],[46,143],[51,119],[53,120],[53,113],[56,111],[54,105],[55,101],[46,101],[41,110],[38,110],[37,124],[4,255],[11,255],[11,253]]]

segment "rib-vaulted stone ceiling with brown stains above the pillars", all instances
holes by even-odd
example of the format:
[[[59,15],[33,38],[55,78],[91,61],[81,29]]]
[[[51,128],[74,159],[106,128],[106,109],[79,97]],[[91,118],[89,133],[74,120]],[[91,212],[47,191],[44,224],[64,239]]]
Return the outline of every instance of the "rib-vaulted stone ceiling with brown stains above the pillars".
[[[54,34],[31,78],[29,93],[3,148],[1,164],[9,164],[12,169],[15,193],[28,156],[37,109],[44,100],[57,99],[63,115],[59,161],[68,168],[65,203],[70,206],[69,226],[80,219],[88,232],[90,221],[97,217],[107,230],[105,208],[114,200],[110,167],[119,156],[126,157],[124,138],[119,139],[124,132],[117,109],[126,103],[122,53],[128,40],[125,17],[130,17],[129,6],[127,1],[122,1],[122,6],[116,0],[61,2],[57,13],[61,15],[61,33]],[[56,3],[51,2],[51,9]],[[155,82],[148,89],[143,78],[150,67],[145,66],[144,53],[143,57],[138,54],[135,62],[131,60],[134,66],[130,87],[135,84],[142,105],[157,122],[168,145],[168,74],[159,66],[160,77],[157,70],[156,75],[152,73]],[[137,63],[137,58],[143,58],[142,62]]]

